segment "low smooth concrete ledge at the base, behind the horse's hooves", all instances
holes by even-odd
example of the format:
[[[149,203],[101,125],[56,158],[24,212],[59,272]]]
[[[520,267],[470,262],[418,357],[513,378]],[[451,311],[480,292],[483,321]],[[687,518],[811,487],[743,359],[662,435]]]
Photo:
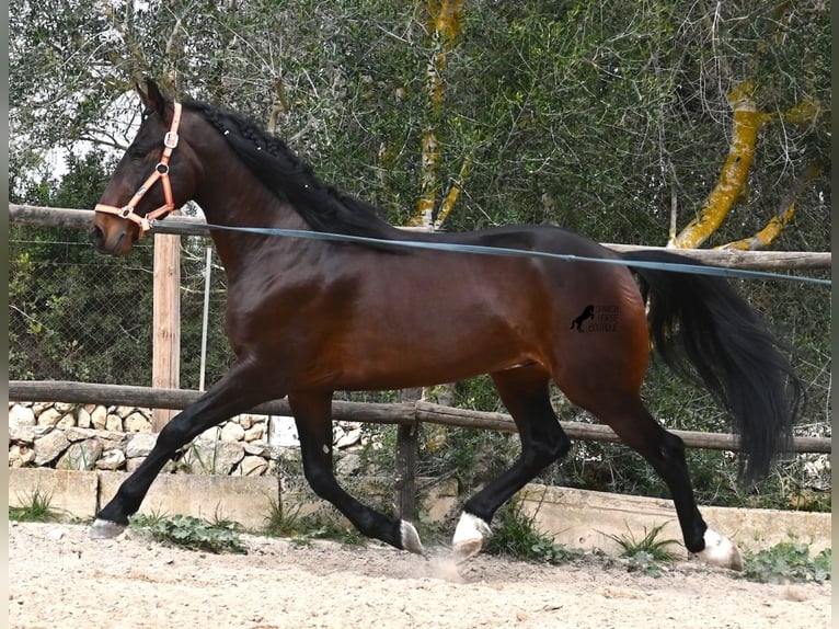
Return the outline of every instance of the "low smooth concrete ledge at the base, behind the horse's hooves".
[[[125,472],[10,469],[9,504],[22,506],[31,501],[35,490],[41,490],[51,494],[51,506],[61,510],[68,518],[88,519],[113,496],[125,478]],[[366,485],[363,491],[354,491],[359,490],[358,487],[347,489],[367,496],[368,502],[391,500],[387,495],[372,495],[377,491],[381,493],[382,487],[389,485],[379,482]],[[537,527],[568,548],[599,548],[612,553],[619,547],[610,535],[632,535],[640,540],[646,531],[662,524],[665,525],[663,539],[681,542],[676,512],[669,500],[538,484],[525,488],[520,496],[526,513],[533,515]],[[323,501],[299,485],[280,492],[276,477],[160,474],[140,513],[230,519],[249,529],[262,529],[272,512],[272,502],[281,502],[284,510],[299,507],[301,515],[325,506]],[[421,503],[432,521],[443,522],[457,507],[457,483],[450,481],[435,487]],[[829,513],[712,506],[700,510],[710,526],[754,551],[791,539],[808,544],[814,553],[830,548]]]

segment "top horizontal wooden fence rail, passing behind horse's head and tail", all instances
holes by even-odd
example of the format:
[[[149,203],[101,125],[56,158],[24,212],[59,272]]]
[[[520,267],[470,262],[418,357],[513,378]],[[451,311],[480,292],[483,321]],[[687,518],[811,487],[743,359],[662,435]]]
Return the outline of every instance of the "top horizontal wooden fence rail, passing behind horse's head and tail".
[[[81,229],[90,227],[91,220],[93,220],[93,210],[9,204],[9,220],[10,222],[21,225]],[[154,226],[154,232],[176,233],[180,236],[206,236],[207,231],[200,228],[202,225],[205,225],[204,219],[179,216],[176,224],[174,221],[159,221]],[[616,251],[665,249],[663,247],[642,247],[636,244],[604,243],[604,245]],[[831,261],[831,253],[829,251],[728,251],[717,249],[679,249],[675,251],[706,264],[755,271],[830,268]]]

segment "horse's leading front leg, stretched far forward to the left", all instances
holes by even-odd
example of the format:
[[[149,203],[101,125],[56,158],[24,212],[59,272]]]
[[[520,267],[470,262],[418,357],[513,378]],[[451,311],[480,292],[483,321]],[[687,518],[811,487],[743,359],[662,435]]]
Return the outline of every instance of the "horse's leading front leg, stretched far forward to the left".
[[[237,363],[207,393],[177,413],[158,435],[146,460],[119,485],[113,499],[99,512],[90,529],[93,538],[119,535],[128,526],[151,483],[177,450],[207,428],[235,414],[285,393],[261,386],[257,369]]]

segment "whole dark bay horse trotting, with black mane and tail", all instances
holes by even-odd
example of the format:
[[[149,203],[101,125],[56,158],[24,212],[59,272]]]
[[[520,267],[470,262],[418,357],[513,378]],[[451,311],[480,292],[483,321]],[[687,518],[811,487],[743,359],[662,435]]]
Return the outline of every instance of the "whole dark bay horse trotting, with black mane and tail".
[[[97,513],[92,537],[118,535],[165,462],[191,439],[287,396],[313,491],[365,536],[424,553],[410,522],[366,506],[336,482],[333,392],[489,374],[516,423],[521,451],[466,502],[452,539],[459,557],[479,552],[496,510],[568,451],[550,402],[554,382],[664,479],[689,552],[743,568],[736,545],[700,515],[682,441],[640,397],[652,345],[680,373],[697,374],[727,411],[740,435],[742,480],[768,473],[790,438],[801,385],[779,343],[727,281],[629,268],[633,261],[692,263],[668,252],[618,253],[544,225],[402,231],[368,203],[320,181],[279,138],[244,116],[198,101],[173,102],[150,80],[138,91],[142,122],[95,207],[90,240],[102,253],[128,254],[153,219],[194,199],[227,273],[226,325],[235,359],[160,432],[142,465]],[[257,228],[370,242],[277,237]],[[405,241],[620,263],[399,245]],[[595,320],[581,334],[574,321],[589,305]],[[600,325],[599,312],[610,317],[608,325]]]

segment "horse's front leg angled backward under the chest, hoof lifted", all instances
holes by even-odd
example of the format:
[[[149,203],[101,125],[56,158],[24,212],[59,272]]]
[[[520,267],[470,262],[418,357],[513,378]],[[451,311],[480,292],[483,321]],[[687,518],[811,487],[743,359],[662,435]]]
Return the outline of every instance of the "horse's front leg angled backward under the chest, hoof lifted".
[[[381,514],[346,493],[335,480],[332,466],[332,392],[289,393],[295,415],[306,480],[366,537],[380,539],[401,550],[425,554],[420,535],[410,522]]]

